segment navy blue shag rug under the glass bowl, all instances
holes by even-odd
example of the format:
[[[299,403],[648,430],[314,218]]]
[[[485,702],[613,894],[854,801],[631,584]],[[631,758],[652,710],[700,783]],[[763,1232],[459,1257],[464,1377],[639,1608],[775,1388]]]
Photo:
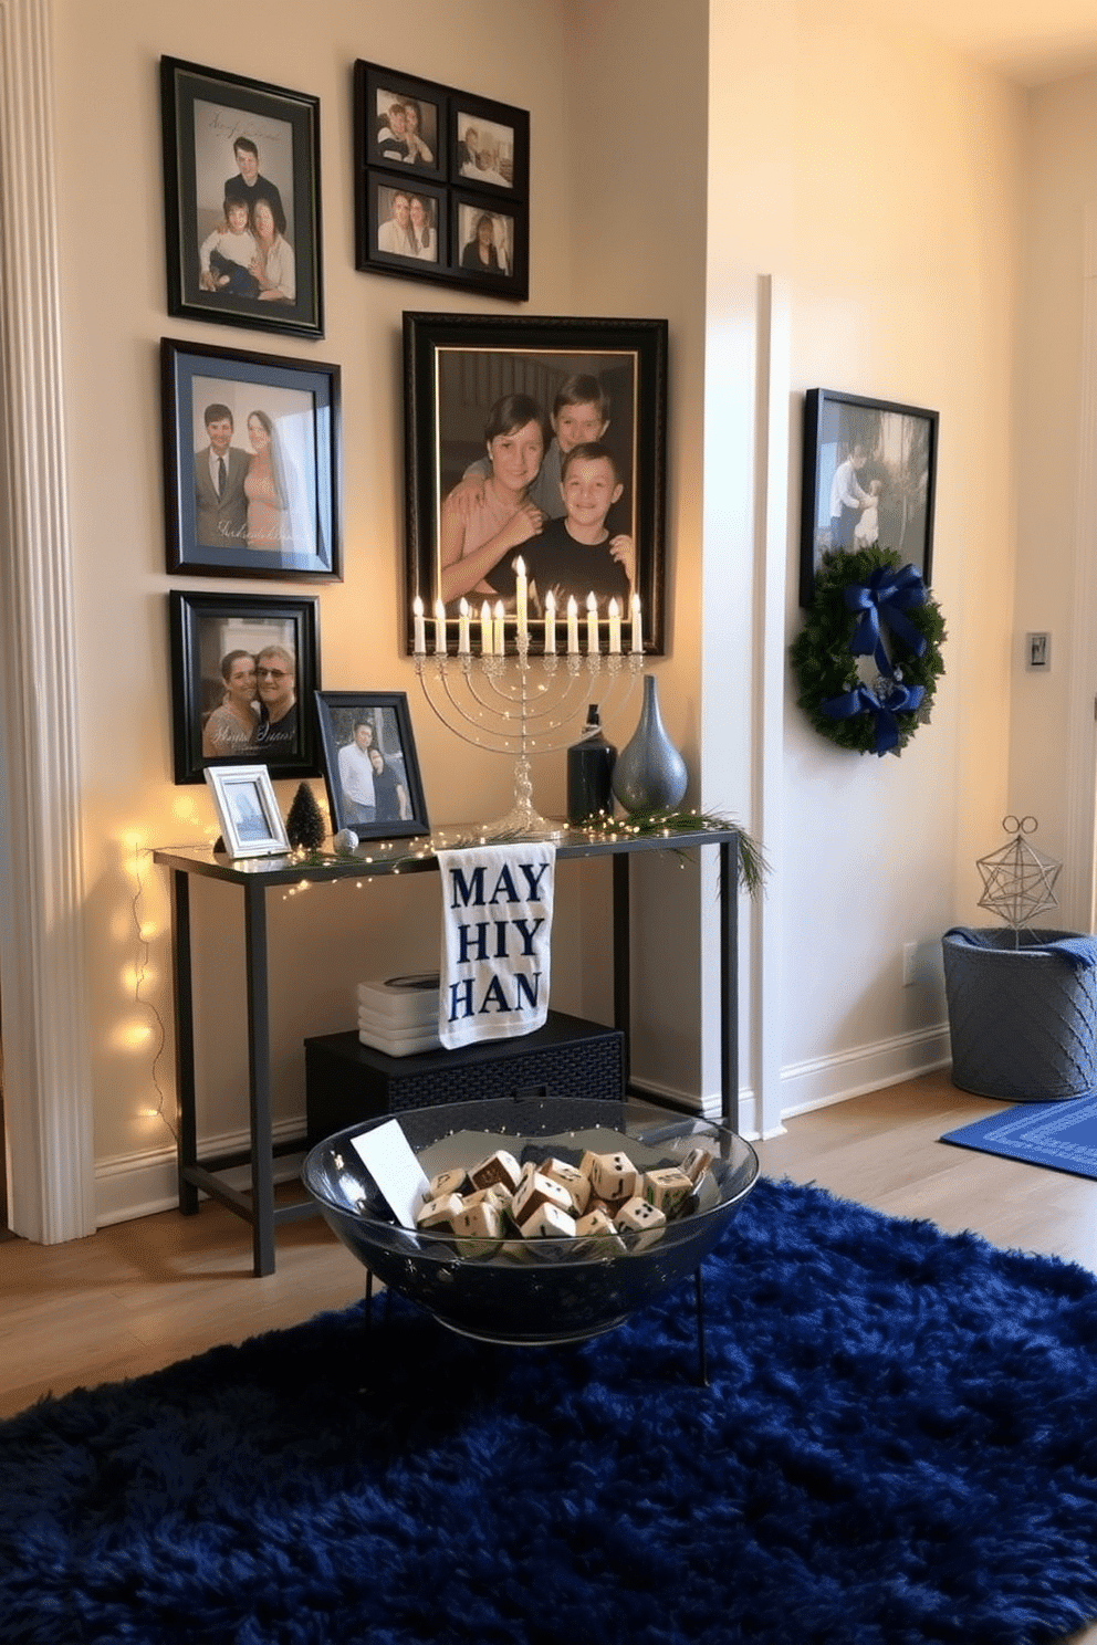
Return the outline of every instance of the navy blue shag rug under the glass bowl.
[[[0,1640],[964,1645],[1097,1615],[1097,1278],[763,1179],[564,1349],[321,1314],[0,1426]],[[380,1337],[380,1341],[378,1341]]]

